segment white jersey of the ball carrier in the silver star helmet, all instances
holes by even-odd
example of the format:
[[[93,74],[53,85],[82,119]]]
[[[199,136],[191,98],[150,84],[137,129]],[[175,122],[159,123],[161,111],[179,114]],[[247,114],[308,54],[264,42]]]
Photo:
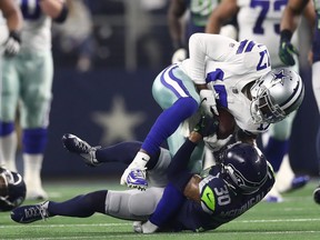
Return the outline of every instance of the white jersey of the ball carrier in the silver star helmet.
[[[243,88],[268,73],[270,57],[266,46],[251,40],[240,42],[218,34],[196,33],[190,38],[190,59],[181,68],[197,83],[212,82],[218,104],[234,117],[237,124],[252,133],[269,124],[257,124],[250,113],[251,100]]]

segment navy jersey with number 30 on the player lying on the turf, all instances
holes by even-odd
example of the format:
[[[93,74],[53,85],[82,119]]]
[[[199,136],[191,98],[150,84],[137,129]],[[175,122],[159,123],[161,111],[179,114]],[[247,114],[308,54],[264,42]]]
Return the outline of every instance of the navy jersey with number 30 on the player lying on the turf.
[[[213,167],[199,183],[201,203],[186,200],[173,221],[168,223],[169,228],[197,232],[216,229],[260,202],[274,183],[273,170],[269,166],[268,179],[257,192],[239,193],[223,180],[219,168]]]

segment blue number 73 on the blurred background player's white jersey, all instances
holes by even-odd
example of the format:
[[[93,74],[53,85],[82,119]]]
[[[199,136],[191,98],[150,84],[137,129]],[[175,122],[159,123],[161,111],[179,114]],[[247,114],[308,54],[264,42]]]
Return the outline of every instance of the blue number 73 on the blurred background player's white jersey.
[[[263,34],[264,29],[262,28],[263,21],[267,17],[268,11],[270,10],[270,7],[273,8],[273,11],[281,11],[281,7],[287,4],[287,0],[276,0],[272,4],[272,1],[266,1],[266,0],[251,0],[250,7],[251,8],[257,8],[261,7],[260,14],[256,21],[256,24],[253,27],[253,32],[256,34]],[[280,33],[280,24],[276,23],[273,26],[274,32],[277,34]]]

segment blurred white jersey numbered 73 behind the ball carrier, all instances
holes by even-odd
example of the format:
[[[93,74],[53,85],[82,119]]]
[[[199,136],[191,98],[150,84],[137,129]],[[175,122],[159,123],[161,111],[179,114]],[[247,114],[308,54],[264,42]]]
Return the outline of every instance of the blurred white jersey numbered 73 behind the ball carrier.
[[[278,51],[280,44],[280,22],[288,0],[237,0],[239,7],[239,40],[252,39],[267,46],[272,68],[281,67]],[[297,34],[292,41],[298,46]]]

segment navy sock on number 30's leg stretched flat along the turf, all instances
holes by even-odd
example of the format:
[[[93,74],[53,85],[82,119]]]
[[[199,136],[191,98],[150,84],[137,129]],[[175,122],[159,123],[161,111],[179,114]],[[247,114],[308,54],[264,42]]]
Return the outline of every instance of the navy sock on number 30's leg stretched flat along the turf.
[[[87,218],[94,212],[106,213],[104,202],[107,193],[107,190],[101,190],[77,196],[63,202],[50,201],[48,207],[49,216]]]

